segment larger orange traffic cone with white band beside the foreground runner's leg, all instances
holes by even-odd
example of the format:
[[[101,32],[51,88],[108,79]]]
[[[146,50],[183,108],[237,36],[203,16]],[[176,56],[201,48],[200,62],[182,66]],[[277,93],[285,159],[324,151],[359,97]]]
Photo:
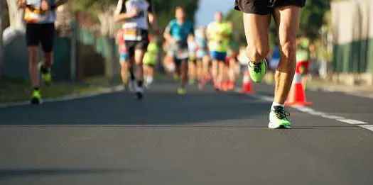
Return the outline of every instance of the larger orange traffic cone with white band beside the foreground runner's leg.
[[[302,84],[301,73],[296,71],[293,79],[293,84],[291,84],[291,89],[288,94],[288,99],[285,102],[286,106],[310,106],[311,102],[306,101],[306,92],[304,91]]]

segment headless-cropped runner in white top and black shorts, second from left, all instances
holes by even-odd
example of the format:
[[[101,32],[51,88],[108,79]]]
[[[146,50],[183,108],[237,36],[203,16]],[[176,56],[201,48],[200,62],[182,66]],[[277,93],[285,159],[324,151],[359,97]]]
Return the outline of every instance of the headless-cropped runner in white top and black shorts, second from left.
[[[136,89],[136,98],[144,96],[144,54],[149,44],[148,21],[155,30],[158,30],[156,18],[151,7],[150,0],[119,0],[116,11],[116,21],[123,23],[124,45],[128,53],[126,61],[129,74],[130,86]],[[134,65],[136,64],[136,77]],[[122,65],[122,67],[125,67]],[[137,81],[137,84],[136,84]]]

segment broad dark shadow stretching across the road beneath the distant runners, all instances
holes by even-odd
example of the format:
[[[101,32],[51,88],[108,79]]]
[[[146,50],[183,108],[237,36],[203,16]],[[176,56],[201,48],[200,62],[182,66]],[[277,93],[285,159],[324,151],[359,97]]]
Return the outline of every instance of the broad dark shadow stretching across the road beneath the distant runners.
[[[0,109],[0,125],[183,125],[247,120],[269,113],[269,103],[236,93],[192,90],[175,94],[159,85],[136,101],[129,92],[74,101]],[[228,122],[229,123],[229,122]]]

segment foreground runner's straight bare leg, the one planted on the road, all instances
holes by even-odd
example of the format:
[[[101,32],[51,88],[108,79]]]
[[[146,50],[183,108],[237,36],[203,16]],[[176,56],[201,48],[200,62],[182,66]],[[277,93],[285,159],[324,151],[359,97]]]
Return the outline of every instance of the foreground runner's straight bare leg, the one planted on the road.
[[[293,82],[296,70],[296,33],[299,27],[300,8],[284,6],[274,11],[279,30],[281,60],[275,74],[276,89],[274,102],[283,104]]]

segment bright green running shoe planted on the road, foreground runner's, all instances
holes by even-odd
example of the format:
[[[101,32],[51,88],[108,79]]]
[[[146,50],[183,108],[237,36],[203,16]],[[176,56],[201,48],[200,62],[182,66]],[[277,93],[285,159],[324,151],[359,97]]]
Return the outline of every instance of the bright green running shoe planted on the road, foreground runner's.
[[[268,128],[291,128],[291,122],[288,120],[290,114],[282,106],[274,106],[269,113]]]

